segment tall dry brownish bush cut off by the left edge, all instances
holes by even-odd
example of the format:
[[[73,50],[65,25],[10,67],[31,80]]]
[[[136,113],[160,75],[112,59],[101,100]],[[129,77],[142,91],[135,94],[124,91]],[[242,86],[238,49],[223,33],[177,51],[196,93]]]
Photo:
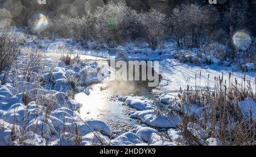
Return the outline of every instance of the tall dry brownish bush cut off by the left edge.
[[[7,32],[0,32],[0,73],[7,71],[5,77],[1,80],[5,82],[6,75],[16,60],[19,53],[19,42],[15,35],[10,35]]]

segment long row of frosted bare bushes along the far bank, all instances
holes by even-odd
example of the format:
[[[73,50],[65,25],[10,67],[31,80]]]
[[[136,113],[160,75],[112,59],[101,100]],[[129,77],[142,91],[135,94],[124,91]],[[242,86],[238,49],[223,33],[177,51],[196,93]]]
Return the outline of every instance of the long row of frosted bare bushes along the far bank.
[[[138,12],[123,1],[109,2],[98,7],[93,14],[76,18],[61,15],[49,19],[49,27],[41,35],[100,41],[110,48],[139,38],[156,49],[170,37],[174,37],[180,48],[199,48],[215,41],[232,46],[234,32],[249,27],[248,15],[245,14],[247,3],[218,11],[216,16],[212,15],[212,7],[180,5],[166,15],[155,9]]]

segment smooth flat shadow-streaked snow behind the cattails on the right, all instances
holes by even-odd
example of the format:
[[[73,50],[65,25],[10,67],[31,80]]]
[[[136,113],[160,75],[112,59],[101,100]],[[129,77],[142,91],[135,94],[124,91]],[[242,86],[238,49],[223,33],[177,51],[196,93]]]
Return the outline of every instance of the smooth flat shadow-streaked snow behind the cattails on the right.
[[[171,83],[168,83],[166,86],[162,86],[163,90],[165,90],[166,92],[180,91],[180,88],[182,90],[185,90],[188,84],[191,87],[195,87],[196,80],[196,86],[201,85],[202,88],[210,86],[211,89],[214,89],[214,77],[222,76],[222,74],[224,80],[226,80],[227,83],[229,83],[229,73],[232,73],[233,81],[234,78],[237,78],[237,80],[241,82],[243,78],[243,74],[241,73],[241,71],[237,70],[236,67],[225,67],[218,64],[212,64],[207,66],[193,65],[191,63],[180,63],[179,61],[172,58],[160,61],[159,71],[159,73],[163,77],[161,82],[164,80],[171,81]],[[197,76],[196,79],[195,76]],[[255,72],[247,72],[246,79],[250,80],[250,82],[254,84]],[[232,80],[230,80],[230,83],[232,82]],[[251,85],[253,87],[253,90],[255,90],[255,86],[253,86],[253,84]]]

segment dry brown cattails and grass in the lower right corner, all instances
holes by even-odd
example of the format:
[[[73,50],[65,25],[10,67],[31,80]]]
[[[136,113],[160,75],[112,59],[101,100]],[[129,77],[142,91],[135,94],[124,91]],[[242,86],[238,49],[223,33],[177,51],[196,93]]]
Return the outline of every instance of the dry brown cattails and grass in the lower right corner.
[[[246,74],[245,74],[246,75]],[[243,116],[240,101],[247,97],[256,100],[250,80],[244,78],[241,83],[230,73],[229,80],[222,76],[215,78],[215,88],[195,86],[181,91],[181,104],[197,104],[204,107],[203,116],[189,117],[182,114],[182,125],[178,126],[186,143],[204,145],[205,139],[188,131],[188,123],[196,123],[209,132],[209,137],[221,141],[222,145],[255,145],[255,120],[250,113],[249,118]],[[197,83],[200,84],[200,83]]]

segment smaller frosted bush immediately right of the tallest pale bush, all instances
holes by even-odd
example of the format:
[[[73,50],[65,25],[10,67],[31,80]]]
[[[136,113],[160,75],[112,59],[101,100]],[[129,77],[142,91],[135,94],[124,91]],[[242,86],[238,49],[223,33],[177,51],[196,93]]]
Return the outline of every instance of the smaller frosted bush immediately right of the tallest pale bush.
[[[148,12],[142,12],[138,15],[139,32],[146,39],[151,48],[155,50],[157,46],[165,39],[167,32],[167,17],[160,11],[151,9]]]

